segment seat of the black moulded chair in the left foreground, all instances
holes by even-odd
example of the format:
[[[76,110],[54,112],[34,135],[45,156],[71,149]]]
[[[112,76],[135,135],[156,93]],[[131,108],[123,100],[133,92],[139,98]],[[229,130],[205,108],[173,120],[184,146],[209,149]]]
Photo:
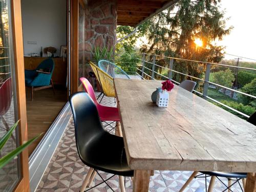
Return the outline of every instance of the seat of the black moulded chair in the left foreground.
[[[92,138],[79,155],[81,161],[92,168],[120,176],[133,177],[134,175],[127,164],[122,137],[108,132],[101,133]]]

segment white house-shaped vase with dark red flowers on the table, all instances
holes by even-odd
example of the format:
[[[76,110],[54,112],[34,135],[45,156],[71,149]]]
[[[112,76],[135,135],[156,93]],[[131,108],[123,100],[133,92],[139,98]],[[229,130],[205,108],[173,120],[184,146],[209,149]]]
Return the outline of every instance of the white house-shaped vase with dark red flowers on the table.
[[[157,106],[167,108],[169,102],[169,93],[174,88],[174,83],[170,80],[162,82],[162,91],[157,94]]]

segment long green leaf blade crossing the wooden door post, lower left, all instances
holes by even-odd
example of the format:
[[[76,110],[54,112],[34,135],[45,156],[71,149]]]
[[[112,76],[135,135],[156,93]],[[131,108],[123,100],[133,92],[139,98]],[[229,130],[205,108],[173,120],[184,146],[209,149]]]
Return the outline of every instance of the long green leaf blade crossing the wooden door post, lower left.
[[[16,124],[16,123],[15,123]],[[14,125],[15,125],[14,124]],[[13,150],[12,152],[10,152],[9,154],[7,154],[6,156],[2,157],[0,159],[0,168],[2,168],[3,166],[5,166],[9,161],[11,161],[14,157],[16,157],[19,153],[21,153],[23,150],[25,150],[25,148],[27,146],[29,146],[32,142],[34,142],[38,137],[40,137],[42,135],[42,133],[36,137],[34,137],[33,139],[30,139],[29,141],[27,141],[26,143],[18,146],[17,148],[15,148],[15,150]]]

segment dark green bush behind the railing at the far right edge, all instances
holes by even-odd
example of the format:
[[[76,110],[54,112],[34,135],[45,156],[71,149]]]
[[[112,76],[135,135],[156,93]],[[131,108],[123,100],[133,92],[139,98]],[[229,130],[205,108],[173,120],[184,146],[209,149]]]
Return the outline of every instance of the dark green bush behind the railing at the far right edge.
[[[242,89],[241,92],[250,94],[250,95],[256,95],[256,78],[253,79],[250,83],[246,84]],[[239,95],[239,101],[242,102],[245,105],[251,105],[254,108],[256,108],[256,99],[245,96],[240,94]]]

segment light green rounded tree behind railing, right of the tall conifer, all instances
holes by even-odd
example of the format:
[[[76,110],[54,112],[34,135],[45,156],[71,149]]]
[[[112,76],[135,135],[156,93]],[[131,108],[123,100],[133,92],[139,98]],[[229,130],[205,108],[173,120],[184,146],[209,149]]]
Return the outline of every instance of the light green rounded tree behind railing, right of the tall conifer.
[[[232,87],[232,81],[234,81],[234,75],[230,69],[225,71],[219,71],[210,74],[210,81],[220,84],[228,88]],[[217,87],[218,89],[218,87]]]

